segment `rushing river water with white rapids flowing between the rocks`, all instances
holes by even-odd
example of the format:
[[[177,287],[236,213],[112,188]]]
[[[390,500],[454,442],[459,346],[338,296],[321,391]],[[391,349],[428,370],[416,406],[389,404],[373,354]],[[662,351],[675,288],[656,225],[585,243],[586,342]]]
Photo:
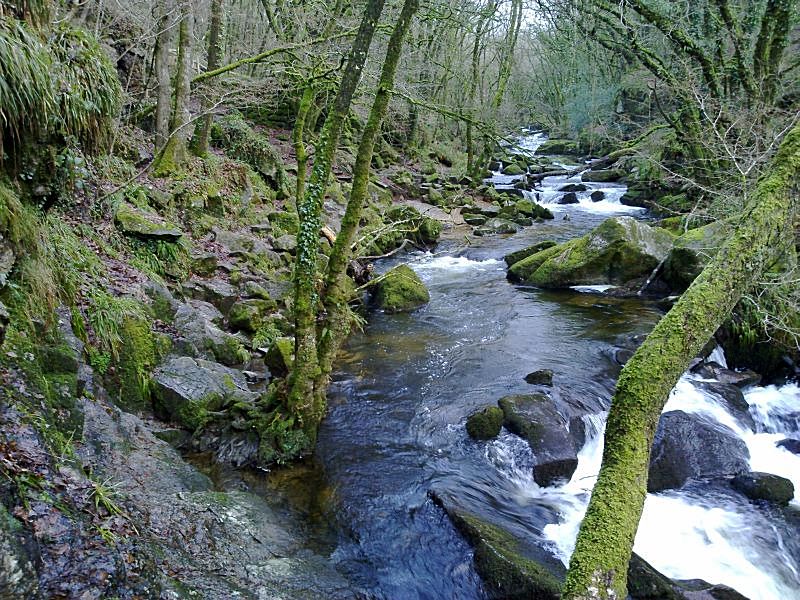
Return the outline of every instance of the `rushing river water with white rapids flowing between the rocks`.
[[[540,141],[525,143],[533,151]],[[544,200],[557,199],[554,190],[567,180],[545,180]],[[466,247],[451,240],[435,254],[404,257],[430,289],[430,303],[412,314],[373,314],[348,343],[318,456],[340,531],[334,558],[370,597],[485,597],[468,545],[430,500],[431,490],[537,545],[553,561],[567,559],[600,466],[618,373],[615,349],[630,347],[660,313],[597,288],[515,287],[506,281],[502,256],[580,235],[609,213],[630,212],[618,196],[606,198],[557,206],[555,220],[512,237],[473,239]],[[542,368],[555,372],[559,409],[582,418],[587,431],[574,476],[549,488],[533,481],[525,442],[504,432],[478,443],[464,428],[475,409],[530,391],[525,374]],[[753,470],[789,477],[800,490],[800,457],[775,446],[800,431],[792,415],[800,406],[797,386],[748,390],[751,431],[691,377],[681,380],[666,410],[703,412],[728,425],[746,442]],[[798,497],[793,506],[800,506]],[[751,600],[797,598],[798,529],[787,510],[749,503],[723,487],[692,484],[650,494],[635,549],[670,577],[724,583]]]

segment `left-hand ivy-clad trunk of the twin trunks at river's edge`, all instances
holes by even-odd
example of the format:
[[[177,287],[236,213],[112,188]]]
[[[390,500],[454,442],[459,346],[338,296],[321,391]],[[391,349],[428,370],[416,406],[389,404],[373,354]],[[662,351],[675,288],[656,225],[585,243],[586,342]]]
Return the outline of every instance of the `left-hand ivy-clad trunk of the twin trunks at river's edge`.
[[[313,443],[322,418],[314,406],[314,380],[319,375],[316,318],[319,308],[317,256],[321,212],[331,166],[350,103],[361,79],[369,46],[383,11],[384,0],[368,0],[364,16],[345,63],[339,90],[317,143],[314,167],[305,195],[297,202],[300,229],[294,266],[295,361],[289,379],[288,409]]]

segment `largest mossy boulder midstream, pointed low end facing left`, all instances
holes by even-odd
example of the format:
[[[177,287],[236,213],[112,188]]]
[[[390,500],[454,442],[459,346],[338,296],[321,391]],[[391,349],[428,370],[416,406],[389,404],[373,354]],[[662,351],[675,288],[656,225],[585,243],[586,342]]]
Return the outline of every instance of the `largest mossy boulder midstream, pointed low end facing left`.
[[[632,217],[612,217],[587,235],[525,258],[512,281],[545,288],[620,285],[649,275],[672,245],[669,232]]]

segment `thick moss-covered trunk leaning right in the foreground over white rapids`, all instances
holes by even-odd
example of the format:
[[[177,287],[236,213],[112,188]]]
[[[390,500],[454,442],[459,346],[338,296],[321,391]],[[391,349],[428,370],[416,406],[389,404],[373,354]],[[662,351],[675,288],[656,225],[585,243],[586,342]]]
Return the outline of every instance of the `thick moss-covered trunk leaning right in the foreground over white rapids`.
[[[742,294],[792,246],[800,125],[784,138],[733,235],[625,365],[603,463],[569,564],[564,600],[619,599],[647,495],[650,448],[667,397]]]

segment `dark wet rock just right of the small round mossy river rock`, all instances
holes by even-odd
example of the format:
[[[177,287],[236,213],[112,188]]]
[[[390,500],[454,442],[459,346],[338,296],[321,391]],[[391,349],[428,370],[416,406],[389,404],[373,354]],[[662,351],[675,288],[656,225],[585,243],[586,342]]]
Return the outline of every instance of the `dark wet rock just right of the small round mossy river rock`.
[[[498,401],[504,424],[531,447],[533,479],[541,486],[569,480],[578,466],[567,422],[545,394],[505,396]]]

